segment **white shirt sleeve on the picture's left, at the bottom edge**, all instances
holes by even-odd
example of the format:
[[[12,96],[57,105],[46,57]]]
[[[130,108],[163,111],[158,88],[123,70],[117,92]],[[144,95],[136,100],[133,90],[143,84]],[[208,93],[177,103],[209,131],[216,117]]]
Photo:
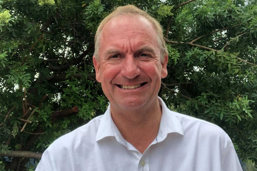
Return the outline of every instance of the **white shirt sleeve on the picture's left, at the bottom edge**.
[[[43,153],[35,171],[57,171],[50,148]]]

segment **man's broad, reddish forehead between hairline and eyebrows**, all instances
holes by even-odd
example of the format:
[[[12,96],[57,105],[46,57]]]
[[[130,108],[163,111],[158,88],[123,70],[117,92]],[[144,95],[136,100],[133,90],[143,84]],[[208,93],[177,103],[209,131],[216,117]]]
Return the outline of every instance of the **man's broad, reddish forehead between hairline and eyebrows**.
[[[157,45],[157,33],[152,23],[140,15],[119,15],[109,20],[102,29],[100,51],[112,43]]]

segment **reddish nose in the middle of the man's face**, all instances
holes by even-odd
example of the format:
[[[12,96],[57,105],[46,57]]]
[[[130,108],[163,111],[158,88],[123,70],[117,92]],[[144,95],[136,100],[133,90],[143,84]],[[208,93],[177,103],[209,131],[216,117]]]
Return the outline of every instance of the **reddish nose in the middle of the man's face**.
[[[128,79],[133,79],[141,73],[139,61],[133,56],[126,56],[123,60],[121,75]]]

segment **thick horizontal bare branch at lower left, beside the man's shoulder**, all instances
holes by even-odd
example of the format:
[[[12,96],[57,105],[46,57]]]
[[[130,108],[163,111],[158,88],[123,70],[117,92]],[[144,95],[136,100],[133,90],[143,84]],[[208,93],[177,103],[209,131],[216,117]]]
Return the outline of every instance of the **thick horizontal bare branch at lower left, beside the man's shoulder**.
[[[31,151],[8,150],[7,153],[0,152],[0,156],[41,159],[42,153],[36,153]]]

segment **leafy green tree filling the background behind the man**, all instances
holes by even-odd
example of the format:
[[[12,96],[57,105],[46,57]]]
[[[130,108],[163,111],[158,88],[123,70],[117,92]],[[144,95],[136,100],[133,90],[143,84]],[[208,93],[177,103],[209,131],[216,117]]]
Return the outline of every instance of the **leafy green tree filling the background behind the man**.
[[[163,26],[169,62],[159,96],[222,127],[240,158],[256,162],[256,0],[0,0],[0,168],[26,170],[56,138],[103,114],[94,35],[124,4]]]

